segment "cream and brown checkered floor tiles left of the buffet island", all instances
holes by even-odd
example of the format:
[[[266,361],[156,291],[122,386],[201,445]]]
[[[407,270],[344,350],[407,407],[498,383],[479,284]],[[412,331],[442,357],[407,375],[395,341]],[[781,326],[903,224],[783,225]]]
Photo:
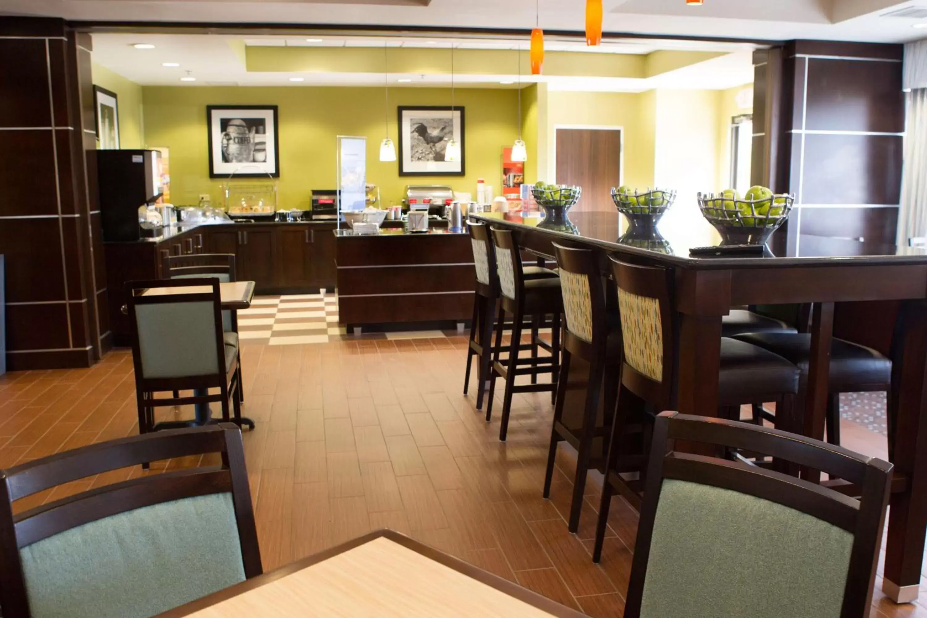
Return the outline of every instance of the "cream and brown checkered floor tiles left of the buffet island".
[[[335,294],[256,296],[250,309],[238,311],[238,334],[246,343],[271,346],[337,341],[344,334],[338,326],[338,298]]]

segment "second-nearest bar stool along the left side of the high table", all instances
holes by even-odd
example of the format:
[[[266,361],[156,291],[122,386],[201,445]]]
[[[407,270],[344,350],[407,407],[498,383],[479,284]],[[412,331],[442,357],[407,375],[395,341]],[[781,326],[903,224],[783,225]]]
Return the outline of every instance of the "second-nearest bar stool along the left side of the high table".
[[[544,498],[551,497],[557,444],[565,440],[576,448],[578,453],[569,519],[569,531],[575,533],[579,528],[586,473],[591,466],[603,464],[607,452],[607,436],[611,429],[608,418],[610,414],[606,414],[605,426],[601,429],[597,427],[596,420],[603,391],[604,409],[615,410],[621,372],[621,327],[617,319],[611,320],[608,315],[602,271],[599,269],[596,254],[589,249],[572,249],[556,243],[553,244],[553,248],[557,254],[557,267],[560,272],[566,327],[556,405],[553,409],[551,448],[547,455],[547,473],[544,476]],[[582,424],[578,428],[568,427],[563,422],[566,384],[569,381],[570,360],[574,356],[590,364]]]

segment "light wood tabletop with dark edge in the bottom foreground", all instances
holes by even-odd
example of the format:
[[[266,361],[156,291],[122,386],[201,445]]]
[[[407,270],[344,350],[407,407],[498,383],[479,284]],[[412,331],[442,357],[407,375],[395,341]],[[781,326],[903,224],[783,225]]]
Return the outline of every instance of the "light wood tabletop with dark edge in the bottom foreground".
[[[581,616],[390,530],[162,614],[164,618]]]

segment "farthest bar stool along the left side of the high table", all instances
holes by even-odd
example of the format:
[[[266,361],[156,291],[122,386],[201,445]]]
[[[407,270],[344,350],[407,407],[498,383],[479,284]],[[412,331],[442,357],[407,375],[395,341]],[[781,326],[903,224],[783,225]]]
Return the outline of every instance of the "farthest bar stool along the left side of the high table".
[[[496,252],[489,239],[489,228],[485,223],[471,221],[468,224],[470,243],[473,246],[473,259],[476,265],[476,290],[473,301],[473,320],[470,322],[470,343],[466,355],[466,373],[464,375],[464,395],[470,386],[470,369],[476,356],[476,379],[479,383],[476,391],[476,410],[483,409],[483,396],[486,394],[486,381],[491,370],[493,347],[493,328],[505,328],[500,322],[493,323],[496,305],[499,303],[499,274],[496,271]],[[557,273],[539,266],[523,266],[522,274],[526,280],[556,277]],[[540,324],[531,322],[531,342],[521,346],[522,350],[531,350],[532,357],[538,356]],[[511,329],[509,329],[511,330]],[[478,334],[478,336],[477,336]]]

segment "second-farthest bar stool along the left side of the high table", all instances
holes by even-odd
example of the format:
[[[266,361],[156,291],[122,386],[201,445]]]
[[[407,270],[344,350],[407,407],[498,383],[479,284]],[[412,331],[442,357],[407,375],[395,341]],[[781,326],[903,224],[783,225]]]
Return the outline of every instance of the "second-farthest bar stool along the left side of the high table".
[[[508,433],[509,413],[512,411],[514,393],[556,393],[557,380],[560,375],[560,314],[564,309],[560,294],[560,278],[526,279],[523,274],[521,252],[509,230],[492,228],[492,241],[496,250],[496,271],[499,273],[499,323],[505,320],[506,312],[513,316],[512,342],[509,346],[509,358],[502,364],[502,328],[496,329],[496,341],[493,349],[492,372],[489,377],[489,403],[486,406],[486,420],[492,416],[492,397],[496,391],[496,377],[505,380],[505,396],[502,398],[502,427],[499,439],[505,441]],[[552,342],[548,344],[540,335],[532,332],[531,344],[550,351],[550,358],[519,359],[521,349],[522,324],[526,316],[531,316],[537,323],[542,315],[552,315]],[[534,329],[532,329],[533,331]],[[519,375],[551,374],[551,384],[515,385]]]

